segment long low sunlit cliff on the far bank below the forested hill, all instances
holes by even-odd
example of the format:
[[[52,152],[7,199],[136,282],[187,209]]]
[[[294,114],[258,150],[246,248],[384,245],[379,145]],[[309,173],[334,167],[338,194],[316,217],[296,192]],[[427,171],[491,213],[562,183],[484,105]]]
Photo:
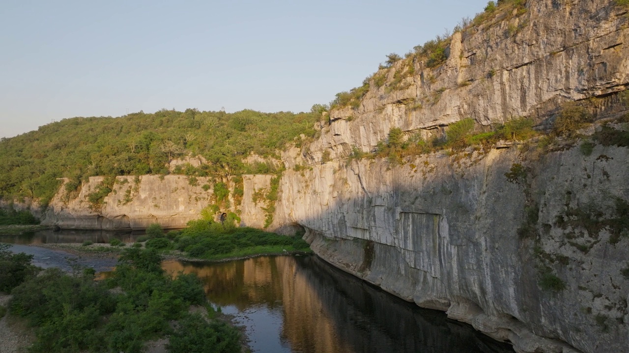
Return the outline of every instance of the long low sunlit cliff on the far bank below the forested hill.
[[[145,229],[152,223],[164,228],[186,227],[189,220],[211,200],[212,191],[201,185],[208,178],[198,177],[195,185],[184,175],[118,176],[112,192],[100,207],[89,202],[103,176],[92,176],[79,195],[65,201],[64,185],[48,206],[42,224],[63,229]]]

